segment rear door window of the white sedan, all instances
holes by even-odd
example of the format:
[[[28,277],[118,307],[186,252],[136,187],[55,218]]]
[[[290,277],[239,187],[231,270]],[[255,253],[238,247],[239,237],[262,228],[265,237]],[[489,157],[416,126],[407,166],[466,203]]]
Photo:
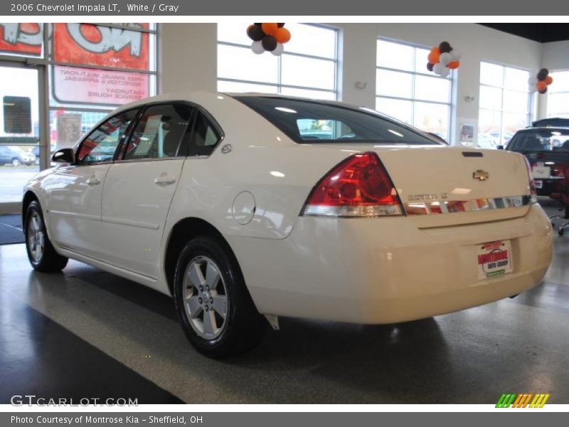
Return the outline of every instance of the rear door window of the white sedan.
[[[124,159],[163,159],[183,154],[180,147],[192,111],[186,104],[148,107],[132,134]]]

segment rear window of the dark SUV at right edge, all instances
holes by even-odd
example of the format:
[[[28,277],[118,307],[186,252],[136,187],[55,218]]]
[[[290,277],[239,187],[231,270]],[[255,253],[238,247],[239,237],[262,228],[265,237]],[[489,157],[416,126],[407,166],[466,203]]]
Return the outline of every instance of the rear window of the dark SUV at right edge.
[[[522,130],[512,137],[508,149],[515,152],[569,152],[569,129]]]

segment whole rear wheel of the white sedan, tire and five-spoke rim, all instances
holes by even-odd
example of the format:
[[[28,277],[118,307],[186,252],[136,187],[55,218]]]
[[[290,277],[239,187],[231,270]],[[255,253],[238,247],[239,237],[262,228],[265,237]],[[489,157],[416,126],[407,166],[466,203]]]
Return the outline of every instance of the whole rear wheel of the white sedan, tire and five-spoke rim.
[[[227,244],[193,238],[181,252],[174,275],[176,311],[198,352],[219,358],[260,342],[265,330],[245,280]]]

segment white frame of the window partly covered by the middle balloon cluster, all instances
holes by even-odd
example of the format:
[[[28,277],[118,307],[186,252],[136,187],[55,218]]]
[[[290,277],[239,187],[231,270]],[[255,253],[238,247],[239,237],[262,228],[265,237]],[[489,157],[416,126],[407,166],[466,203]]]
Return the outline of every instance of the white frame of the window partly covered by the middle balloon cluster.
[[[378,37],[376,39],[376,52],[377,52],[377,48],[378,48],[378,41],[386,41],[388,43],[397,43],[403,46],[408,46],[410,48],[413,49],[426,49],[426,50],[430,50],[430,46],[423,46],[417,43],[410,43],[408,41],[401,41],[401,40],[396,40],[395,38],[388,38],[388,37]],[[427,60],[427,58],[425,58],[425,60]],[[386,70],[386,71],[394,71],[396,73],[406,73],[411,75],[411,97],[397,97],[397,96],[391,96],[391,95],[379,95],[378,94],[378,88],[376,87],[376,94],[375,94],[375,98],[376,98],[376,102],[378,100],[378,98],[385,98],[385,99],[389,99],[389,100],[399,100],[399,101],[409,101],[412,104],[412,108],[411,108],[411,123],[409,124],[409,126],[411,127],[415,127],[415,103],[416,102],[422,102],[424,104],[436,104],[436,105],[445,105],[448,107],[448,127],[447,127],[447,135],[446,135],[446,141],[450,141],[451,135],[452,135],[452,127],[454,125],[454,120],[452,117],[452,110],[453,110],[453,103],[452,100],[454,99],[454,83],[455,83],[455,78],[456,78],[456,70],[450,70],[450,74],[449,77],[442,77],[440,75],[436,75],[435,73],[430,73],[427,71],[423,72],[423,71],[419,71],[417,70],[416,67],[416,60],[415,60],[415,50],[413,51],[413,71],[409,71],[409,70],[400,70],[399,68],[390,68],[390,67],[384,67],[381,65],[378,65],[378,58],[377,58],[377,53],[376,53],[376,76],[377,76],[377,72],[378,70]],[[448,82],[450,82],[450,90],[449,90],[449,100],[448,102],[442,102],[442,101],[432,101],[432,100],[424,100],[424,99],[420,99],[420,98],[416,98],[415,97],[415,78],[417,75],[420,76],[425,76],[425,77],[430,77],[430,78],[439,78],[442,80],[447,80]],[[382,112],[382,114],[387,115],[387,113]],[[396,119],[396,117],[393,117]],[[396,119],[399,120],[399,119]],[[421,132],[425,132],[428,133],[427,131],[423,131],[421,130]],[[448,144],[448,142],[447,142]]]

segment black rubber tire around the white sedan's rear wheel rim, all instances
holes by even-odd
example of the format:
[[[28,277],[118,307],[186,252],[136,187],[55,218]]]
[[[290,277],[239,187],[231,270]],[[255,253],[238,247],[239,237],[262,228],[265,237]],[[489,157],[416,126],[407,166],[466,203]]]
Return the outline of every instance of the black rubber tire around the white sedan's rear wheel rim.
[[[192,260],[203,257],[212,260],[218,268],[223,279],[223,292],[228,302],[224,323],[219,328],[219,335],[213,339],[202,337],[196,332],[186,313],[184,301],[186,270]],[[260,342],[267,328],[252,302],[235,255],[227,243],[218,238],[199,236],[186,244],[176,263],[174,302],[182,329],[189,342],[198,352],[214,359],[252,349]],[[207,307],[203,308],[205,310]]]

